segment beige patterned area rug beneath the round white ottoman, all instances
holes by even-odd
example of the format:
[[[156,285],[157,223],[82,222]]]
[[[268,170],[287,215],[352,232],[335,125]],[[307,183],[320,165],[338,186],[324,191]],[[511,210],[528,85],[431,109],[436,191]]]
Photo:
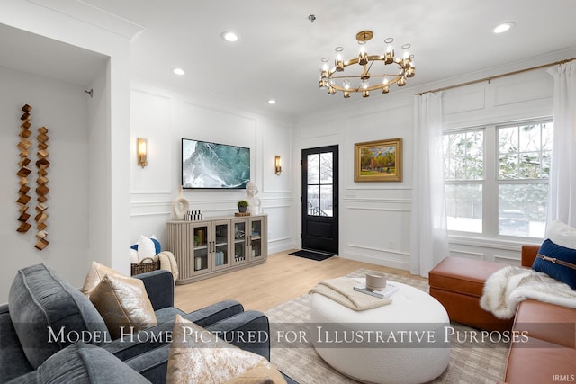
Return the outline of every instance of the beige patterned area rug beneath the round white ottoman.
[[[364,277],[368,270],[358,270],[349,277]],[[428,292],[428,281],[408,276],[387,273],[389,280],[409,284],[419,290]],[[266,311],[274,330],[275,324],[308,323],[310,295],[287,301]],[[460,333],[478,332],[469,326],[453,323],[451,326]],[[274,347],[271,349],[271,361],[281,371],[301,384],[344,384],[356,383],[346,376],[334,371],[311,344],[299,347]],[[509,344],[488,342],[477,344],[464,340],[452,342],[448,368],[434,383],[494,383],[502,380],[509,351]]]

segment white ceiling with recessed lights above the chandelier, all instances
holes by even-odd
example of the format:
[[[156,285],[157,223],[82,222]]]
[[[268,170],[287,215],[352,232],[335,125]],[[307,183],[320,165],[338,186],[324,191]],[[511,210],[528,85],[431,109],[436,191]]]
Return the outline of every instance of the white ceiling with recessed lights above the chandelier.
[[[73,2],[72,0],[67,0]],[[416,76],[406,88],[576,48],[573,0],[77,0],[141,26],[131,43],[134,80],[176,91],[203,91],[299,115],[347,103],[318,86],[320,58],[356,33],[374,31],[369,54],[387,37],[397,54],[411,44]],[[310,14],[316,22],[308,20]],[[507,33],[491,32],[516,22]],[[240,40],[220,39],[236,31]],[[352,52],[352,53],[351,53]],[[569,53],[566,53],[569,55]],[[566,57],[569,58],[569,57]],[[184,76],[171,69],[183,67]],[[392,86],[391,93],[398,91]],[[361,98],[359,94],[353,97]],[[386,95],[374,94],[370,99]],[[278,103],[267,105],[268,99]]]

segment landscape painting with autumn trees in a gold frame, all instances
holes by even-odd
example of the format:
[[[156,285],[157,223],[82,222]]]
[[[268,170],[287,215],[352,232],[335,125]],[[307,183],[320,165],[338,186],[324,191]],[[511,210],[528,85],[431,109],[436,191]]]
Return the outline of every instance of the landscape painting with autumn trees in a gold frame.
[[[368,141],[354,145],[355,182],[401,182],[402,139]]]

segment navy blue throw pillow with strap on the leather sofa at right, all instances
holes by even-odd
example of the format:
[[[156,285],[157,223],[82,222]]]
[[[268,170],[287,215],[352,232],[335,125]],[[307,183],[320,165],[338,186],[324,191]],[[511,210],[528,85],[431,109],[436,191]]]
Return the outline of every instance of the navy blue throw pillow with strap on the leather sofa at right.
[[[546,257],[551,257],[576,265],[576,249],[558,246],[549,238],[542,243],[542,246],[540,246],[538,255],[545,255]],[[536,260],[532,264],[532,269],[538,272],[545,272],[550,277],[570,285],[572,290],[576,290],[576,269],[572,269],[571,267],[559,263],[543,260],[540,257],[536,257]]]

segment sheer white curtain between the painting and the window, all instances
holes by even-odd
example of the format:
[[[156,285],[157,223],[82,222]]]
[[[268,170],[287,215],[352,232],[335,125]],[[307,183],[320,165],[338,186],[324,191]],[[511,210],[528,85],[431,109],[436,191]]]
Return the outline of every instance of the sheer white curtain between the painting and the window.
[[[448,255],[444,162],[442,158],[442,93],[414,98],[410,272],[428,272]]]

